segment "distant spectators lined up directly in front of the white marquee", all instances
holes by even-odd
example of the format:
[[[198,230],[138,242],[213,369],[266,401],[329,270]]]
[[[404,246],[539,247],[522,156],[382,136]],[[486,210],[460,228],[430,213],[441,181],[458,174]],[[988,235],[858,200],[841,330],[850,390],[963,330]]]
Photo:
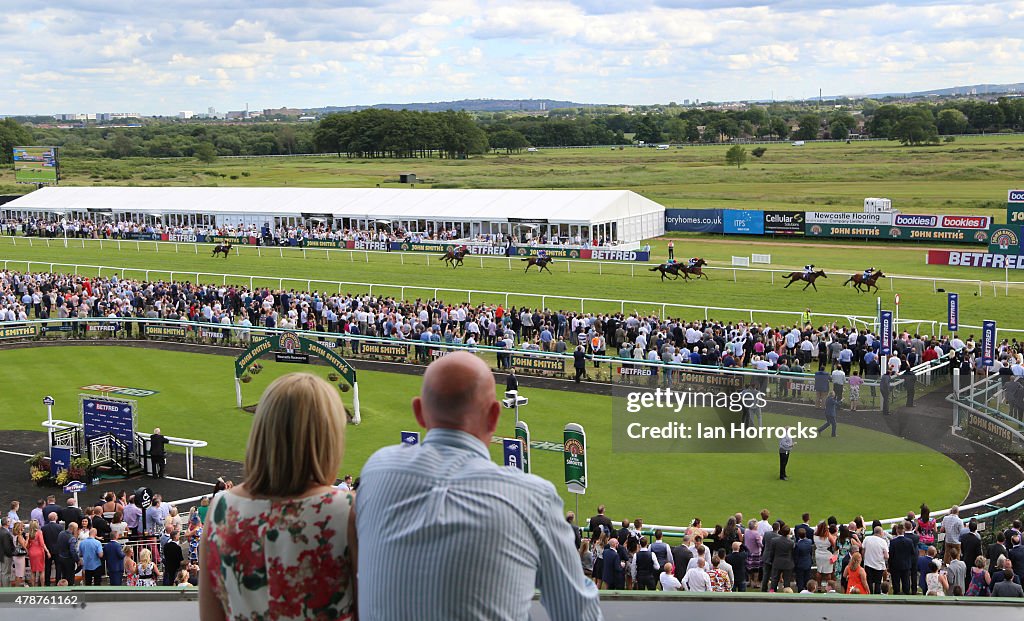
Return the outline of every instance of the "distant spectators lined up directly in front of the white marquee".
[[[502,233],[470,236],[460,227],[434,230],[428,226],[423,232],[407,231],[401,226],[381,226],[375,230],[337,229],[326,223],[315,225],[281,225],[269,223],[256,224],[223,224],[223,225],[173,225],[163,223],[146,223],[136,220],[119,219],[46,219],[46,218],[7,218],[0,220],[0,231],[8,236],[23,235],[42,238],[75,238],[98,240],[134,240],[139,236],[190,236],[205,237],[252,237],[264,246],[302,246],[307,240],[333,242],[472,242],[506,246],[509,244],[528,244],[541,246],[574,246],[590,248],[611,245],[604,238],[592,240],[574,237],[558,237],[546,234],[531,236],[524,231],[520,237],[508,236]],[[528,239],[527,239],[528,238]]]

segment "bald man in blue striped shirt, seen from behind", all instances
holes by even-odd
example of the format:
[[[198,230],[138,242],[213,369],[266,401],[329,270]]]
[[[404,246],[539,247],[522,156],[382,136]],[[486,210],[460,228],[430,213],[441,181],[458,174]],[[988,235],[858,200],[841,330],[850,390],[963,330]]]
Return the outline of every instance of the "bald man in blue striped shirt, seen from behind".
[[[381,449],[360,472],[362,619],[527,619],[535,586],[554,621],[601,619],[554,486],[490,460],[501,411],[475,356],[427,367],[413,399],[423,443]]]

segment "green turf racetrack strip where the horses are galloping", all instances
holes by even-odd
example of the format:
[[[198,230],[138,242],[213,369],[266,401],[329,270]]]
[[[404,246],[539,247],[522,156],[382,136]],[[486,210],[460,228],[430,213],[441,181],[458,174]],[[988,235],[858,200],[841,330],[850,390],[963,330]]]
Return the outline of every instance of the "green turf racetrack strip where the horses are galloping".
[[[655,244],[655,255],[664,256],[664,241]],[[15,245],[16,244],[16,245]],[[1007,297],[1004,287],[994,289],[986,281],[981,287],[981,295],[977,295],[979,287],[975,283],[954,283],[939,281],[933,285],[931,280],[910,281],[883,279],[880,281],[882,291],[877,295],[859,294],[850,287],[842,287],[842,283],[854,273],[870,264],[888,274],[918,276],[928,278],[959,278],[967,276],[993,279],[1001,276],[998,271],[978,268],[975,271],[956,270],[943,265],[924,264],[925,250],[922,247],[907,246],[864,246],[857,244],[823,245],[809,247],[806,245],[774,244],[752,246],[743,240],[729,238],[723,242],[719,239],[686,238],[676,244],[677,256],[700,255],[706,257],[712,266],[727,266],[732,255],[749,255],[754,252],[766,252],[772,255],[772,268],[799,270],[804,263],[814,262],[823,267],[829,277],[818,281],[819,291],[811,289],[801,291],[801,285],[783,289],[783,281],[763,273],[736,272],[733,282],[733,272],[711,272],[711,281],[662,282],[657,274],[648,272],[649,265],[637,263],[604,264],[556,261],[552,268],[554,274],[523,274],[522,263],[512,261],[512,270],[504,259],[488,259],[470,257],[465,266],[451,270],[442,266],[436,257],[425,254],[397,253],[349,253],[334,251],[328,254],[323,250],[307,251],[303,258],[302,251],[295,249],[263,249],[262,256],[257,255],[254,247],[239,247],[240,255],[228,259],[211,258],[203,248],[200,254],[195,254],[190,245],[179,246],[179,252],[174,252],[174,246],[161,246],[162,251],[155,251],[153,243],[124,242],[118,250],[116,242],[105,242],[100,250],[96,242],[88,242],[82,248],[82,241],[71,241],[69,248],[63,247],[62,240],[51,240],[49,247],[45,240],[34,240],[29,246],[28,240],[18,239],[12,242],[10,238],[0,238],[0,261],[31,260],[45,262],[46,265],[35,263],[34,270],[48,270],[50,262],[108,265],[129,267],[143,272],[127,273],[134,278],[145,276],[168,278],[174,271],[176,279],[183,278],[180,273],[191,272],[188,277],[195,280],[196,272],[213,274],[232,274],[244,276],[244,279],[228,279],[228,282],[249,283],[249,276],[271,277],[272,280],[255,280],[254,284],[276,287],[276,279],[293,279],[286,282],[290,288],[304,289],[307,281],[327,281],[330,283],[344,281],[356,283],[375,283],[393,285],[391,287],[375,287],[374,292],[383,295],[400,296],[401,286],[407,298],[433,297],[434,289],[439,288],[438,296],[446,301],[461,301],[467,298],[465,293],[442,291],[449,289],[474,289],[503,292],[498,295],[474,294],[475,302],[505,301],[504,292],[510,292],[509,303],[540,305],[538,295],[548,296],[545,304],[551,308],[580,309],[575,298],[589,297],[607,300],[640,300],[653,304],[639,304],[628,301],[587,302],[587,312],[626,310],[657,312],[660,304],[689,304],[695,306],[718,306],[736,308],[739,310],[713,310],[709,315],[714,319],[746,320],[751,319],[749,309],[784,310],[788,315],[754,314],[757,321],[772,323],[792,323],[798,319],[799,313],[810,306],[812,313],[820,316],[863,316],[876,315],[876,297],[881,295],[885,306],[892,306],[894,294],[901,296],[901,319],[913,319],[922,322],[944,321],[946,312],[946,296],[942,292],[933,292],[933,286],[946,291],[961,294],[961,323],[980,326],[983,320],[992,319],[999,322],[1002,329],[1020,328],[1014,303],[1021,298],[1024,289],[1012,286]],[[136,250],[141,248],[141,250]],[[369,260],[368,260],[369,258]],[[480,266],[482,260],[483,267]],[[404,263],[402,263],[404,261]],[[24,270],[26,264],[8,263],[15,270]],[[62,268],[69,270],[69,268]],[[599,271],[603,274],[599,274]],[[94,270],[83,268],[82,274],[94,274]],[[632,276],[631,276],[632,274]],[[1013,277],[1013,275],[1011,275]],[[210,281],[213,277],[204,277]],[[221,282],[222,279],[217,279]],[[321,290],[338,289],[337,285],[327,282],[311,283]],[[356,286],[342,286],[344,291],[358,291]],[[418,289],[417,289],[418,288]],[[362,288],[365,290],[365,288]],[[527,295],[515,295],[515,294]],[[567,299],[558,299],[564,296]],[[1008,303],[1009,302],[1009,303]],[[702,319],[700,308],[668,308],[669,315],[685,319]],[[834,321],[834,320],[827,320]],[[930,323],[912,325],[911,330],[930,333]],[[966,330],[969,331],[969,330]],[[1007,332],[1012,335],[1013,333]]]

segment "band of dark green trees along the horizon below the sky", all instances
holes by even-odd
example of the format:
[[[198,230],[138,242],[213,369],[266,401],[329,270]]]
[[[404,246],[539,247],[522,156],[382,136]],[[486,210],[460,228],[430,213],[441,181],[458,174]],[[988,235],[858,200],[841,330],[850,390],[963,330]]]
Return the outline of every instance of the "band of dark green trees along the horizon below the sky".
[[[140,127],[87,125],[58,129],[0,122],[0,161],[11,147],[53,144],[74,158],[261,156],[333,153],[357,158],[466,158],[529,147],[723,142],[736,139],[847,139],[851,134],[907,144],[940,135],[1024,131],[1024,97],[901,104],[863,99],[821,110],[807,104],[737,109],[669,105],[630,112],[613,108],[511,113],[368,109],[317,123],[152,122]]]

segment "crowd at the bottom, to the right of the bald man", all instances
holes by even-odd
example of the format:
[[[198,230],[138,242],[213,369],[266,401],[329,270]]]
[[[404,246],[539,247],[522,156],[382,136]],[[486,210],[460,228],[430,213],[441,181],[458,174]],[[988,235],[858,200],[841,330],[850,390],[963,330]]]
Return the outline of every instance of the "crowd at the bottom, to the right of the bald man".
[[[955,506],[937,521],[923,504],[888,530],[859,515],[839,524],[804,513],[790,525],[764,509],[760,518],[744,523],[735,513],[714,529],[694,520],[676,545],[641,520],[616,529],[603,505],[590,519],[589,538],[573,513],[566,521],[584,573],[603,589],[1024,597],[1019,520],[986,546],[978,521],[965,522]]]

